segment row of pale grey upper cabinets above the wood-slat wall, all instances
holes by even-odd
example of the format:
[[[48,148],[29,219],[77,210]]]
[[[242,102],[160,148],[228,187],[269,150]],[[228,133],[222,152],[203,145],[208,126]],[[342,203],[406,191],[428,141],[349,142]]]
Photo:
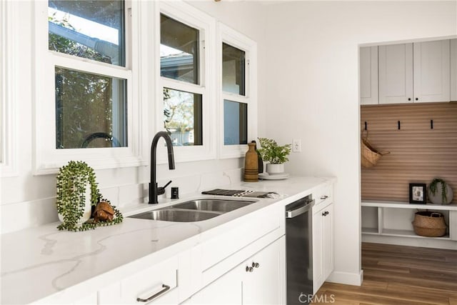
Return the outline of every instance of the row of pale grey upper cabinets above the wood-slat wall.
[[[456,39],[361,48],[361,104],[456,100],[456,49]]]

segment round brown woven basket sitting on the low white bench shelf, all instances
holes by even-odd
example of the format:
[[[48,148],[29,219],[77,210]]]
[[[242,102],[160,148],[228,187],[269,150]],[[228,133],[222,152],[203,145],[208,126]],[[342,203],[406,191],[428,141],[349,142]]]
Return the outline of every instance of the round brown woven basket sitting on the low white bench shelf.
[[[444,216],[438,212],[416,212],[412,224],[417,235],[439,237],[446,234],[447,226],[446,222],[444,222]]]

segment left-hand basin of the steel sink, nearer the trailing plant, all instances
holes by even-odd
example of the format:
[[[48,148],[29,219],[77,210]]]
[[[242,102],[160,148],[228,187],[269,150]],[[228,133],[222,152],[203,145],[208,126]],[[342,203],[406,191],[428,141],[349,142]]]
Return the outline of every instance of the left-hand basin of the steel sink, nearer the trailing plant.
[[[160,209],[147,211],[141,214],[129,216],[131,218],[151,219],[161,221],[193,222],[210,219],[220,215],[220,213],[208,211],[192,211],[179,209]]]

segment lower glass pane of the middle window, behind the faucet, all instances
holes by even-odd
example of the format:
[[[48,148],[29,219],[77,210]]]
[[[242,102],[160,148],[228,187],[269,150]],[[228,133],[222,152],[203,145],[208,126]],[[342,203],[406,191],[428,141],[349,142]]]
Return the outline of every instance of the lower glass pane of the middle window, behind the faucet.
[[[164,88],[164,125],[174,146],[203,145],[201,94]]]

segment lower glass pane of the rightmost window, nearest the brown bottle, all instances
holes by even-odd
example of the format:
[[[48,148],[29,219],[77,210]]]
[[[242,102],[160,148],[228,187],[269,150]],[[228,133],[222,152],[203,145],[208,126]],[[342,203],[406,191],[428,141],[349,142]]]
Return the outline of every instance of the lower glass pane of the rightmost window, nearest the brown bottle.
[[[224,145],[248,143],[248,105],[224,99]]]

